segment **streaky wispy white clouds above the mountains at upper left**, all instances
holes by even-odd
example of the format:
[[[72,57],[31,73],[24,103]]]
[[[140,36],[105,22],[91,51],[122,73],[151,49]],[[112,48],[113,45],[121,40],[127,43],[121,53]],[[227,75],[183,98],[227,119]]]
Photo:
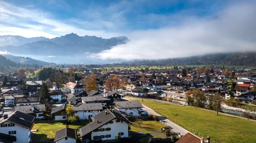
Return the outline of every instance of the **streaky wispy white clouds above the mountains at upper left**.
[[[74,20],[57,20],[45,11],[20,8],[4,1],[1,2],[0,22],[2,22],[2,24],[0,23],[1,35],[20,35],[27,38],[37,36],[55,38],[56,36],[69,33],[76,33],[81,36],[95,35],[104,38],[119,36],[119,33],[107,32],[105,30],[81,29],[76,25],[77,23]],[[80,23],[90,22],[80,21]],[[107,26],[113,26],[108,21],[101,21],[101,23]]]

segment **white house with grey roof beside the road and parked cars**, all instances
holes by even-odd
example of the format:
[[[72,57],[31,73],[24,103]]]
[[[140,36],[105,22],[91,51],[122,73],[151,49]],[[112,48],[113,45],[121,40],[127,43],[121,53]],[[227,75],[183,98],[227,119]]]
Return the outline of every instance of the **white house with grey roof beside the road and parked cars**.
[[[140,115],[138,108],[143,107],[140,101],[116,101],[114,105],[116,110],[126,113],[129,116]]]

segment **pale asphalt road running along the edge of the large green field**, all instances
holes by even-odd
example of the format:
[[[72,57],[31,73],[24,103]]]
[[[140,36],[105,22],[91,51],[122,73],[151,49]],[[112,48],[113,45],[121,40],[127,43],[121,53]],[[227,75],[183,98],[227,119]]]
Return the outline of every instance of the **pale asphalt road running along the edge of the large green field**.
[[[143,104],[142,104],[143,105]],[[157,115],[158,116],[158,119],[161,120],[162,122],[164,122],[165,124],[167,124],[168,126],[170,126],[172,129],[172,132],[176,132],[176,133],[180,133],[182,135],[185,135],[187,133],[191,133],[189,132],[188,130],[180,127],[179,125],[173,123],[172,121],[170,121],[169,119],[157,114],[154,110],[152,110],[151,108],[148,108],[147,106],[143,105],[144,108],[142,108],[144,111],[147,111],[148,114],[151,114],[151,115]],[[193,133],[191,133],[193,134]],[[195,134],[193,134],[195,135]],[[196,135],[195,135],[196,136]],[[197,136],[196,136],[197,137]],[[199,138],[199,137],[197,137]],[[201,139],[201,138],[199,138]]]

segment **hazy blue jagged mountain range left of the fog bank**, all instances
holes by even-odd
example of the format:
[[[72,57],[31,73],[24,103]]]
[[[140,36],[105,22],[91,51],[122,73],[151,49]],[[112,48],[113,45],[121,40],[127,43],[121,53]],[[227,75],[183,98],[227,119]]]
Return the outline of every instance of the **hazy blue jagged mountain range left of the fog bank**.
[[[99,64],[104,61],[91,58],[91,53],[99,53],[112,46],[125,44],[127,41],[129,39],[125,36],[104,39],[96,36],[78,36],[74,33],[52,39],[5,35],[0,36],[0,51],[8,51],[11,55],[30,57],[50,63]]]

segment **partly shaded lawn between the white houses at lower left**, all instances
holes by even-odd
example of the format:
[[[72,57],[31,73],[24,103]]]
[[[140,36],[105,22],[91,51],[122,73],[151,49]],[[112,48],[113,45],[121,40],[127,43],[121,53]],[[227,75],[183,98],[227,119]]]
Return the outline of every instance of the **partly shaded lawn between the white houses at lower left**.
[[[72,123],[69,124],[69,128],[77,129],[82,128],[86,124],[88,124],[89,121],[80,121],[79,124]],[[36,123],[34,124],[32,129],[37,129],[37,132],[35,134],[35,141],[36,142],[47,142],[49,140],[53,140],[55,137],[55,132],[57,130],[60,130],[62,128],[65,128],[66,124],[62,122],[57,123]]]

